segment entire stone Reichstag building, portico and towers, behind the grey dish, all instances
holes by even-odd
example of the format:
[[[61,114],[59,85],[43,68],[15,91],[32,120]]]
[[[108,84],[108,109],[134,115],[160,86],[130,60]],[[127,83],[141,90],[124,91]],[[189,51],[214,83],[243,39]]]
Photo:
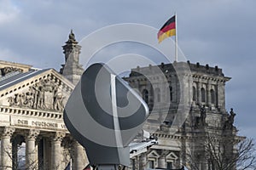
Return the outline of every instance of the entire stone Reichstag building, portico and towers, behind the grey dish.
[[[62,113],[84,71],[79,64],[83,47],[71,32],[62,48],[66,63],[61,71],[0,61],[0,169],[18,169],[21,144],[26,144],[25,167],[29,170],[64,169],[70,160],[76,170],[88,164],[86,149],[67,131]],[[183,71],[184,65],[189,66],[189,71]],[[164,74],[157,74],[157,70]],[[160,83],[164,78],[166,83]],[[230,77],[225,77],[218,66],[189,61],[137,66],[124,79],[148,104],[153,116],[144,129],[155,129],[150,135],[158,140],[158,144],[131,153],[132,169],[193,169],[190,157],[199,169],[212,169],[214,162],[207,159],[202,144],[207,134],[239,141],[233,125],[236,114],[225,108],[225,83]],[[181,126],[173,126],[184,108],[188,111],[186,119]],[[230,156],[236,152],[234,145],[226,150]]]

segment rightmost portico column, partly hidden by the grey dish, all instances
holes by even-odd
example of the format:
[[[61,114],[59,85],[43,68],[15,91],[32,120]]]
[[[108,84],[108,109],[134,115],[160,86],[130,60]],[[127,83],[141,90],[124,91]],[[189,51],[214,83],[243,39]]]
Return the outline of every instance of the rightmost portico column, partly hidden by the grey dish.
[[[84,169],[89,164],[84,147],[74,141],[73,169]]]

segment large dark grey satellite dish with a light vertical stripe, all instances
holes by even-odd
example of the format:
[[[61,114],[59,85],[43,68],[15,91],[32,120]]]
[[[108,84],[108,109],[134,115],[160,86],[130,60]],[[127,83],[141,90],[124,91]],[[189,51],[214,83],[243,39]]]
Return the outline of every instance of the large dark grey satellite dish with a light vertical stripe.
[[[107,65],[90,65],[67,100],[64,122],[90,165],[129,166],[128,144],[143,128],[148,105]]]

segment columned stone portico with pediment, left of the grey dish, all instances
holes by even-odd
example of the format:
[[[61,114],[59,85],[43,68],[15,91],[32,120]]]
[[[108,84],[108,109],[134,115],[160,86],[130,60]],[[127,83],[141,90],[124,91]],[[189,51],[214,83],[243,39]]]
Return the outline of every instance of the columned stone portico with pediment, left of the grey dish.
[[[84,168],[85,150],[62,117],[73,84],[52,69],[8,74],[0,77],[0,169],[64,169],[71,160],[75,169]]]

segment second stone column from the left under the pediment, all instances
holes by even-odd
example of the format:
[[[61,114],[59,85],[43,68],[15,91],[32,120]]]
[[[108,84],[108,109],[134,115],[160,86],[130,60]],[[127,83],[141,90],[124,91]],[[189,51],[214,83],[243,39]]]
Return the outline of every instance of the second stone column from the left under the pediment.
[[[31,129],[26,133],[26,169],[38,169],[38,150],[36,148],[36,139],[39,130]]]

